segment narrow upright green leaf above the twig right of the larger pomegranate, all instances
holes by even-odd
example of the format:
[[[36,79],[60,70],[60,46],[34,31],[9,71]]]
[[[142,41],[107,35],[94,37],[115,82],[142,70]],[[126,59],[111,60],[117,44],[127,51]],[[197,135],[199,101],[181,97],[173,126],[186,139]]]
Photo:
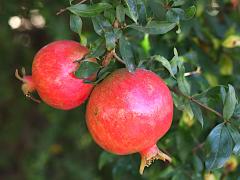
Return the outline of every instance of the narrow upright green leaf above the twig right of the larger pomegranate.
[[[178,87],[183,94],[190,95],[190,85],[184,76],[185,68],[183,65],[178,65],[178,69],[179,69],[179,73],[177,74]]]

